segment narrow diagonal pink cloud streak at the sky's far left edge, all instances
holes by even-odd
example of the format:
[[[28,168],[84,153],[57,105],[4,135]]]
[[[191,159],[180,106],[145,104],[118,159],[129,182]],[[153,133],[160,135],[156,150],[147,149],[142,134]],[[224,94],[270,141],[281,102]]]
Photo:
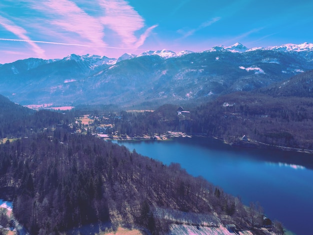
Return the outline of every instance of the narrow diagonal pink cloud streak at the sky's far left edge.
[[[32,51],[36,53],[38,57],[41,58],[43,56],[44,50],[38,47],[34,42],[30,40],[28,36],[26,36],[27,34],[26,30],[15,25],[12,21],[1,16],[0,16],[0,25],[7,31],[13,33],[15,36],[17,36],[21,40],[27,42],[31,46]]]

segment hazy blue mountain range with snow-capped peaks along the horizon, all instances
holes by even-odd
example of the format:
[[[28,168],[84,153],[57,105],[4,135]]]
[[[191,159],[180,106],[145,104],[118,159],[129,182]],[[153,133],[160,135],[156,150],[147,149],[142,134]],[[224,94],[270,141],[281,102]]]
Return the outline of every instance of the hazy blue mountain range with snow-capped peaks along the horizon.
[[[313,69],[313,44],[203,52],[168,50],[118,59],[69,55],[0,65],[0,94],[22,104],[161,105],[209,100],[287,81]]]

